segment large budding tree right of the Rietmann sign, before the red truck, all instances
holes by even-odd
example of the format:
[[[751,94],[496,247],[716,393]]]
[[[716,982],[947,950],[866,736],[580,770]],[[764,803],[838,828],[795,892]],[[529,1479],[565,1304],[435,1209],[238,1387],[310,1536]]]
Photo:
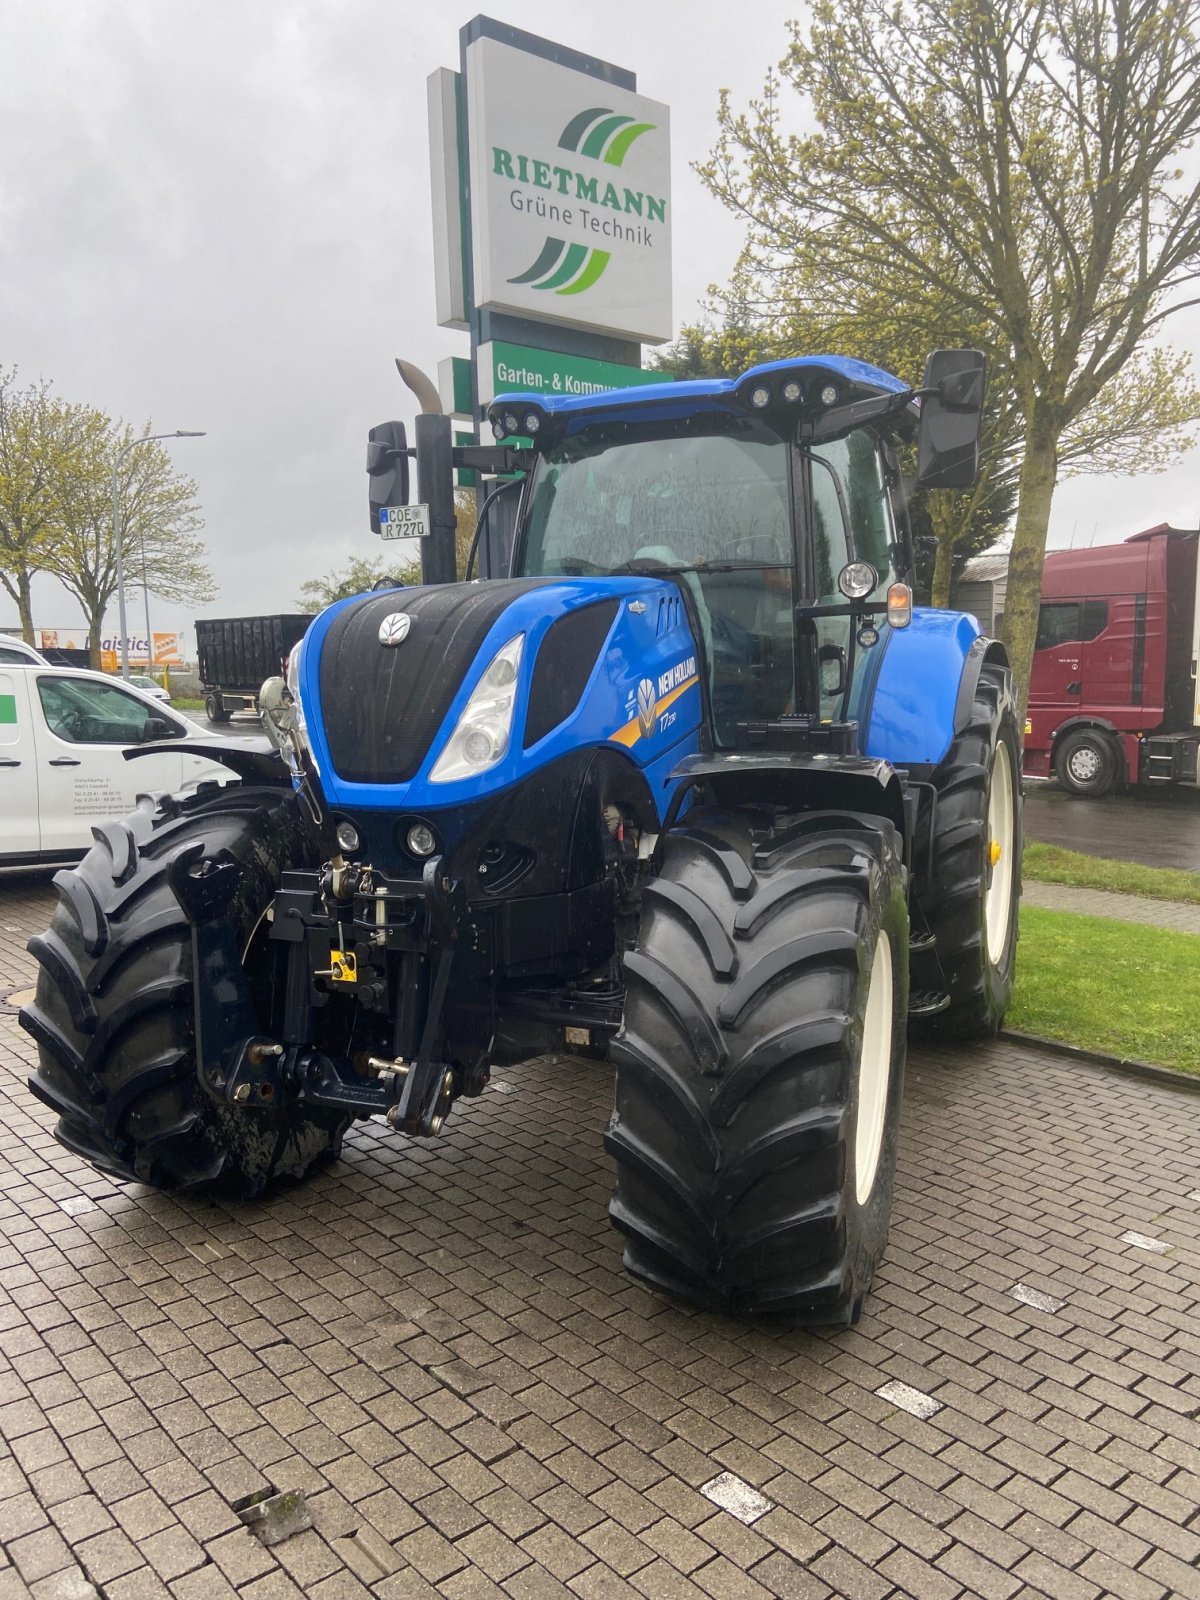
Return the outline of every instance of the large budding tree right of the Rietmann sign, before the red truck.
[[[981,330],[1016,419],[1003,632],[1022,701],[1062,467],[1147,442],[1162,462],[1200,413],[1152,342],[1200,275],[1200,184],[1179,168],[1198,21],[1200,0],[818,0],[782,64],[816,131],[781,130],[771,75],[749,115],[722,101],[702,168],[763,282],[789,259],[838,298],[883,277],[898,306],[933,291]],[[1126,437],[1131,378],[1157,408]]]

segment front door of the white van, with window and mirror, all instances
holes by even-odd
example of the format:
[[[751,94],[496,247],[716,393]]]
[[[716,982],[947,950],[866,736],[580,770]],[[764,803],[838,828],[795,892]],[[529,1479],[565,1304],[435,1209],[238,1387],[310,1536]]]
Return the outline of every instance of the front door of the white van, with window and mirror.
[[[126,762],[126,746],[142,744],[158,718],[174,734],[178,718],[115,683],[70,672],[27,674],[35,678],[37,773],[42,850],[80,851],[91,845],[96,822],[131,811],[149,789],[179,789],[182,755],[163,750]]]

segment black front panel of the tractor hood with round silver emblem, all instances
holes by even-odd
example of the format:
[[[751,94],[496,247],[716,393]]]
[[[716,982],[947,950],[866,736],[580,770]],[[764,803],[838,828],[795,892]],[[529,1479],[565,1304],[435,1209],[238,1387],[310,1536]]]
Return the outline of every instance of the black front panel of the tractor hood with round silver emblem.
[[[322,717],[338,776],[352,784],[416,778],[493,624],[546,582],[389,589],[346,606],[330,624],[320,661]],[[379,624],[395,611],[410,618],[408,637],[381,645]]]

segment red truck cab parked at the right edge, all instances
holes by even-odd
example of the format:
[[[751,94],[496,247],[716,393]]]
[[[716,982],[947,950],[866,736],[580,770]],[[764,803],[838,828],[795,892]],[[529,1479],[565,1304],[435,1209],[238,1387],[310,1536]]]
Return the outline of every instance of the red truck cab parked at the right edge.
[[[1200,786],[1200,533],[1054,550],[1042,576],[1024,771],[1074,794]]]

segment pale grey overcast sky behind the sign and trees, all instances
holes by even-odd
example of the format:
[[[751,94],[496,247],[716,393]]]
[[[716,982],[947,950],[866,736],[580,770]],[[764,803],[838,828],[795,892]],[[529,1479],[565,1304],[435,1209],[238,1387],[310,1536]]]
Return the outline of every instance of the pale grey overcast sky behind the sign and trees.
[[[672,114],[675,323],[739,234],[690,170],[794,0],[493,0],[486,14],[637,72]],[[426,78],[475,8],[411,0],[0,0],[0,365],[171,445],[200,490],[210,616],[291,610],[371,555],[366,429],[413,406],[392,366],[467,352],[435,323]],[[1197,323],[1189,330],[1195,334]],[[854,354],[854,352],[846,352]],[[917,374],[904,374],[917,376]],[[1051,544],[1197,523],[1200,451],[1059,488]],[[77,626],[50,579],[37,624]],[[13,621],[0,598],[0,626]],[[150,600],[155,627],[192,608]],[[141,592],[130,622],[141,629]],[[115,632],[115,605],[109,618]],[[190,643],[190,632],[187,643]]]

